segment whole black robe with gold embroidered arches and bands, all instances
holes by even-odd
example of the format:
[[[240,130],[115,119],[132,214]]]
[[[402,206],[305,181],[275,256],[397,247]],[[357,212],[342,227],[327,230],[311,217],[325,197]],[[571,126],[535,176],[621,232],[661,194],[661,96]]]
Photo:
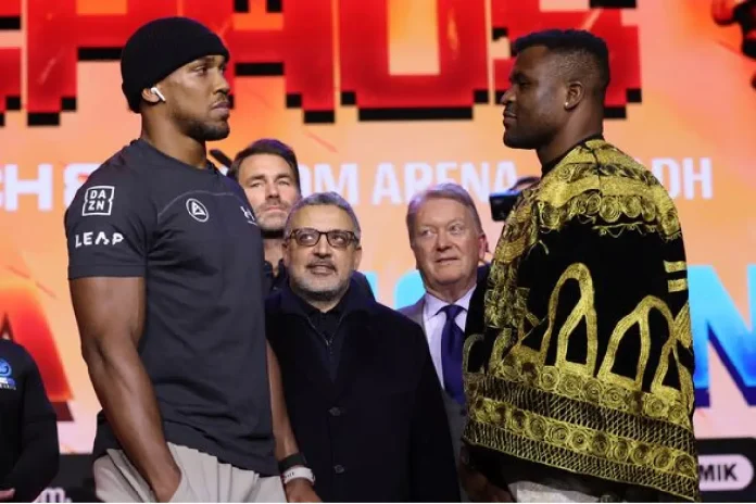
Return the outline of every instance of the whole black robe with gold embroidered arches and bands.
[[[465,342],[465,441],[700,500],[685,252],[675,205],[603,139],[524,191]]]

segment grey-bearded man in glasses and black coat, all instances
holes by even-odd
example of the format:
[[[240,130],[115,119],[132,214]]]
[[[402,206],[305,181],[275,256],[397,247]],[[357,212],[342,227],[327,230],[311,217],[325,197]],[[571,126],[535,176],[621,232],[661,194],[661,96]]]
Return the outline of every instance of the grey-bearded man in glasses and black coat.
[[[291,210],[289,281],[268,298],[297,441],[323,501],[459,501],[441,388],[418,325],[351,279],[360,224],[335,192]],[[295,471],[284,475],[287,478]]]

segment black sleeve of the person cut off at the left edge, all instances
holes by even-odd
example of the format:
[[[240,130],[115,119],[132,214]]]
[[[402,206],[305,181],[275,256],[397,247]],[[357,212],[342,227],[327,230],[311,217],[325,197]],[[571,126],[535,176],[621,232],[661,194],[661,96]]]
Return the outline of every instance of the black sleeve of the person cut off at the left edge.
[[[39,369],[28,353],[22,376],[21,454],[0,488],[15,489],[13,502],[32,502],[58,474],[58,423]]]

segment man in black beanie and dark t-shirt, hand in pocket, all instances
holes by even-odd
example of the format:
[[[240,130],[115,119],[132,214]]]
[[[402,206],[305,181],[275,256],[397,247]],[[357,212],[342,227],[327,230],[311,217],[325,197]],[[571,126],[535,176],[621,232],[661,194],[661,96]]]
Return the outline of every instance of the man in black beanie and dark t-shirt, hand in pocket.
[[[206,159],[205,143],[229,134],[228,59],[193,20],[140,27],[121,60],[140,138],[66,211],[71,294],[102,404],[103,501],[316,499],[306,469],[287,495],[278,477],[297,444],[265,339],[260,229]]]

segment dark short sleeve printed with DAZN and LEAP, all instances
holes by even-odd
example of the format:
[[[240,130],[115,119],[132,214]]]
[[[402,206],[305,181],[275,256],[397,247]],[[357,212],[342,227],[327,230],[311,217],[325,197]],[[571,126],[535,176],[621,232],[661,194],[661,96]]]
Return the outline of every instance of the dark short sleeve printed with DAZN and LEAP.
[[[68,279],[144,276],[155,213],[129,168],[103,165],[65,214]]]

